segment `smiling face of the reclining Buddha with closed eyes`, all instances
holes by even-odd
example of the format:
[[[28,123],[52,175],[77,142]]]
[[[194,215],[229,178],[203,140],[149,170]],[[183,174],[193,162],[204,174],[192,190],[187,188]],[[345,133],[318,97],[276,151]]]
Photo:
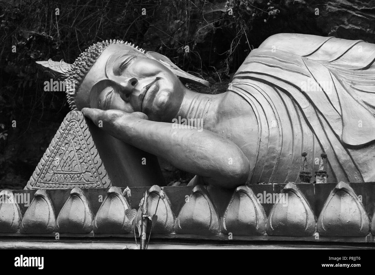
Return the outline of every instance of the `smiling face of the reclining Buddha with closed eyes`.
[[[140,111],[151,120],[170,121],[186,87],[166,66],[127,45],[110,45],[84,78],[77,107]]]

